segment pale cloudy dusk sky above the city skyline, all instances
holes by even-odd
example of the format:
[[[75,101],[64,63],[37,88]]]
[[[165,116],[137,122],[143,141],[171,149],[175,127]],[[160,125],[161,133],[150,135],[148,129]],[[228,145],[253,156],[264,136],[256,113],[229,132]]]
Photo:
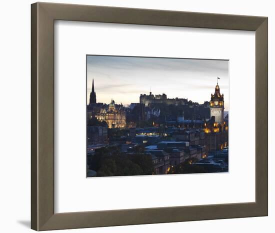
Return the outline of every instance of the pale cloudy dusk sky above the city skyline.
[[[130,104],[140,93],[165,93],[167,98],[188,98],[203,103],[214,92],[216,77],[228,111],[228,60],[87,56],[87,103],[94,79],[96,101]]]

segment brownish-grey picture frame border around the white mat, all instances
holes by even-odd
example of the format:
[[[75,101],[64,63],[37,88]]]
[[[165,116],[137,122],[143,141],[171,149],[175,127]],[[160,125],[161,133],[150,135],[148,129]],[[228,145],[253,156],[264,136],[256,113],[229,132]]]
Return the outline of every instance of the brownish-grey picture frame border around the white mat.
[[[255,31],[255,202],[54,213],[54,20]],[[69,229],[267,215],[267,17],[31,4],[31,228]]]

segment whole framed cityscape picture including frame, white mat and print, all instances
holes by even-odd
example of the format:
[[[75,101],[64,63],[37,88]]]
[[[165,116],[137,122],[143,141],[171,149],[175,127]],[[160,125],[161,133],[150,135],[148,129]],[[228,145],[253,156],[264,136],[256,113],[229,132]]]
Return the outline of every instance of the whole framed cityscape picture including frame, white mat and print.
[[[267,215],[267,18],[31,5],[31,228]]]

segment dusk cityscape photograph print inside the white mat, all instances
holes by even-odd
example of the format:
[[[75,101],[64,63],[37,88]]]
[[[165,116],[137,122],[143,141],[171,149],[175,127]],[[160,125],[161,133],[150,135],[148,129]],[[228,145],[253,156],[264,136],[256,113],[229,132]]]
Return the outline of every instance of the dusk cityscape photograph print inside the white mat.
[[[228,65],[86,55],[86,176],[228,172]]]

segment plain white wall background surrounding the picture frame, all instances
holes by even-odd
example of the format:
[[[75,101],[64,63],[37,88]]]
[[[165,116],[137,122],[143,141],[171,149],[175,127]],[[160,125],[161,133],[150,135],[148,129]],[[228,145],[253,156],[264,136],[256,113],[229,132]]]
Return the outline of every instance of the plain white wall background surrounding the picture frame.
[[[50,0],[49,0],[50,1]],[[30,232],[30,3],[1,2],[0,14],[0,230]],[[53,0],[51,2],[268,16],[269,36],[269,216],[238,219],[72,229],[62,232],[273,232],[275,172],[271,143],[275,132],[275,7],[270,0]],[[273,184],[273,185],[272,185]],[[55,231],[54,231],[55,232]],[[60,231],[61,232],[61,231]]]

